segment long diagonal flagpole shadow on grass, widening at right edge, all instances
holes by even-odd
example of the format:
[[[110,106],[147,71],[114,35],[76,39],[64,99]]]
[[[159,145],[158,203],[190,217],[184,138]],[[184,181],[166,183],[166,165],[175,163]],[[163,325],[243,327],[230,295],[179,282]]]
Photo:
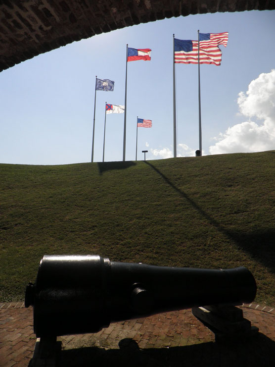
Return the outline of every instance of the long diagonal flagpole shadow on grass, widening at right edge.
[[[240,248],[257,258],[263,265],[267,266],[270,271],[275,272],[275,229],[270,228],[259,229],[255,233],[243,233],[227,230],[221,223],[203,210],[194,200],[188,197],[183,190],[176,187],[158,168],[152,163],[145,161],[152,169],[154,169],[179,195],[189,202],[189,204],[197,210],[212,226],[218,231],[234,241]]]

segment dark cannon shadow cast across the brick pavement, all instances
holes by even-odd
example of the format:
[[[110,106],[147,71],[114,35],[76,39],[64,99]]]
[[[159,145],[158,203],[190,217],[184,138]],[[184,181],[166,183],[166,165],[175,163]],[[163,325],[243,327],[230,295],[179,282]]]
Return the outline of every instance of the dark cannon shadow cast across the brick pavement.
[[[139,349],[132,339],[119,349],[97,347],[63,350],[59,367],[274,367],[275,342],[262,333],[244,341],[200,343],[184,347]]]

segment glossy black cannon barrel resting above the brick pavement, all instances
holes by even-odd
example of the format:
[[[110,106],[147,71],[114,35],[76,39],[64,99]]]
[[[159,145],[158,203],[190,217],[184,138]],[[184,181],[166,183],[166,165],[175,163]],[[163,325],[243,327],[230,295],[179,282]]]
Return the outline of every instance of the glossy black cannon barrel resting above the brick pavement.
[[[100,256],[44,256],[26,288],[38,337],[92,333],[110,322],[206,305],[241,305],[256,296],[245,267],[195,269],[110,262]]]

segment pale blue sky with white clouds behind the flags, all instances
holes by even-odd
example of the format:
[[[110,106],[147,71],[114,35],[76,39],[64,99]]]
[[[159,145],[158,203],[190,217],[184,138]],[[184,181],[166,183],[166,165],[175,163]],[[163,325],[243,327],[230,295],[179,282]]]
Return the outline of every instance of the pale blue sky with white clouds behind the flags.
[[[275,149],[275,11],[190,15],[74,42],[0,73],[0,162],[91,161],[95,75],[115,81],[96,93],[94,161],[102,161],[105,102],[124,105],[126,44],[150,48],[128,63],[126,160],[173,155],[173,33],[197,39],[229,32],[221,66],[201,65],[203,154]],[[198,67],[176,65],[178,156],[198,149]],[[243,92],[241,94],[241,92]],[[247,93],[248,92],[248,93]],[[105,161],[122,160],[124,114],[106,116]]]

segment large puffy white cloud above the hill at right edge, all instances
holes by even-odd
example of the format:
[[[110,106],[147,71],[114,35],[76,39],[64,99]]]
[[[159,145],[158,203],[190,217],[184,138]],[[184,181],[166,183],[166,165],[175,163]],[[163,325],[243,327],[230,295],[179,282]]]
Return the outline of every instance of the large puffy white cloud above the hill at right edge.
[[[237,103],[242,115],[255,116],[251,120],[229,127],[214,138],[217,143],[209,147],[210,154],[259,152],[275,149],[275,70],[262,73],[240,92]]]

